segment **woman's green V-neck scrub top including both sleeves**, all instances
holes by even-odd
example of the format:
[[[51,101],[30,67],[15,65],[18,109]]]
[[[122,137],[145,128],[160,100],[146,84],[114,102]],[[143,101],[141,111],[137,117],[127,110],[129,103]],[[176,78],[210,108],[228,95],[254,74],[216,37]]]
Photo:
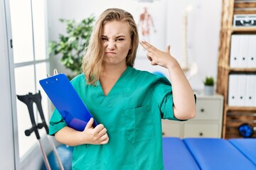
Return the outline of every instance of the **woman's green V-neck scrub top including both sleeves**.
[[[127,67],[107,96],[99,82],[97,86],[86,84],[84,74],[71,83],[110,137],[106,145],[75,146],[73,169],[164,169],[161,118],[177,120],[166,77]],[[55,110],[49,134],[66,125]]]

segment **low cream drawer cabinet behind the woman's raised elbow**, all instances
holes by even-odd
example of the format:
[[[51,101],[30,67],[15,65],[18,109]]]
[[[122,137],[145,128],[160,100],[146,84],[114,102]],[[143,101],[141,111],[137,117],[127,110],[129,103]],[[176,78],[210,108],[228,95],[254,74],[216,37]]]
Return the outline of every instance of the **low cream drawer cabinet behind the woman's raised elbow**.
[[[221,137],[223,96],[197,94],[196,117],[183,122],[162,120],[165,137]]]

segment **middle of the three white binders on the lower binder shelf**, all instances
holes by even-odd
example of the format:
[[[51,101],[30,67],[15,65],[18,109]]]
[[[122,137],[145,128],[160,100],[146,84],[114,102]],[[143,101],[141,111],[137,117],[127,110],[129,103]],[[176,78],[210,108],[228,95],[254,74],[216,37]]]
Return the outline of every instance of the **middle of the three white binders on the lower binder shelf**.
[[[238,74],[238,101],[237,106],[245,106],[246,74]]]

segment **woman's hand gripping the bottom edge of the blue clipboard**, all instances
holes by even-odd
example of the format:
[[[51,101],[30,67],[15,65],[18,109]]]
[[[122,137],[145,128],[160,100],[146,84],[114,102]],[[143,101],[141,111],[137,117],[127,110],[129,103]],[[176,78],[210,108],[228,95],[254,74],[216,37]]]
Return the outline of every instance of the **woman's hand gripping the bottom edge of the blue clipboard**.
[[[107,129],[104,125],[99,124],[95,128],[93,128],[93,118],[89,120],[87,123],[85,130],[82,131],[82,141],[86,144],[92,145],[105,145],[109,141],[109,137],[107,135]]]

